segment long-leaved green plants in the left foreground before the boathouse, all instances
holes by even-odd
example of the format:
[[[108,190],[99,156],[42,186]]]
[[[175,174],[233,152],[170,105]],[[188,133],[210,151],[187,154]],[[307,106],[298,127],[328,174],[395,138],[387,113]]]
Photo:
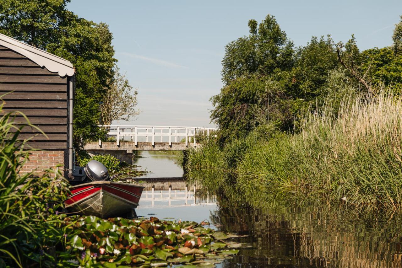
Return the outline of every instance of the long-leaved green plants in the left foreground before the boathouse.
[[[18,139],[24,125],[14,125],[14,117],[0,117],[0,263],[51,267],[55,246],[63,241],[64,229],[55,214],[63,207],[67,183],[55,170],[41,176],[20,173],[32,150],[29,139]]]

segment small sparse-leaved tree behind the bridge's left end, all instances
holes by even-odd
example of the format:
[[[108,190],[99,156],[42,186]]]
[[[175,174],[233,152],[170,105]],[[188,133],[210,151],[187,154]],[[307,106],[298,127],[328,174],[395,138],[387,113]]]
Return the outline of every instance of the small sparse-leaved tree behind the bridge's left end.
[[[107,81],[106,94],[100,104],[101,125],[111,125],[113,120],[133,120],[139,115],[137,105],[137,89],[129,84],[125,75],[116,68],[114,78]]]

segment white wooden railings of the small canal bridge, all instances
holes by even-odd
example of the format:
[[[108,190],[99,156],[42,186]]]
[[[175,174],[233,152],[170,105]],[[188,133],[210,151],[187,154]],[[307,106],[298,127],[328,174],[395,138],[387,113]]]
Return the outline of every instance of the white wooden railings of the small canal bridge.
[[[160,142],[163,142],[163,137],[167,137],[169,146],[172,145],[172,141],[180,142],[183,137],[185,138],[186,146],[193,142],[196,146],[195,136],[196,134],[213,135],[213,132],[217,129],[209,127],[170,127],[170,126],[141,126],[141,125],[100,125],[107,130],[107,137],[116,137],[117,145],[120,145],[121,139],[124,137],[130,137],[131,141],[137,145],[140,137],[145,137],[145,142],[150,142],[152,146],[155,145],[156,140],[160,138]],[[214,135],[215,136],[215,135]],[[179,140],[180,139],[180,140]],[[99,140],[99,145],[102,145],[102,141]]]

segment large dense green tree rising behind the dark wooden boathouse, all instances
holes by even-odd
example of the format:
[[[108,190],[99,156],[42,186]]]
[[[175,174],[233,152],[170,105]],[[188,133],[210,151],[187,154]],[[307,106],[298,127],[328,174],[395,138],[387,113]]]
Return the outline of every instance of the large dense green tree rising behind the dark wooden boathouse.
[[[76,68],[74,146],[101,135],[99,104],[113,77],[112,34],[106,24],[79,18],[70,0],[0,0],[0,32],[49,51]]]

